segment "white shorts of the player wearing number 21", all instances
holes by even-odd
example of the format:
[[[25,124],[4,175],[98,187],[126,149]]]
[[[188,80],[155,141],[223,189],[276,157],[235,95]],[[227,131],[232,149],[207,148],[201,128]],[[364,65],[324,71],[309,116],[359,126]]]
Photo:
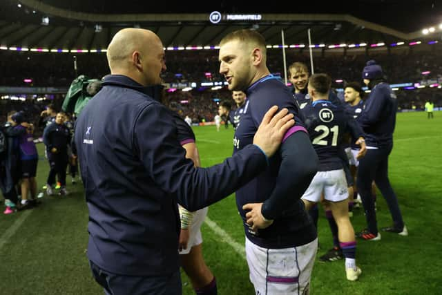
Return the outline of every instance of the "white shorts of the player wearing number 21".
[[[340,202],[348,198],[344,169],[316,172],[302,199],[319,202],[323,192],[325,200],[331,202]]]

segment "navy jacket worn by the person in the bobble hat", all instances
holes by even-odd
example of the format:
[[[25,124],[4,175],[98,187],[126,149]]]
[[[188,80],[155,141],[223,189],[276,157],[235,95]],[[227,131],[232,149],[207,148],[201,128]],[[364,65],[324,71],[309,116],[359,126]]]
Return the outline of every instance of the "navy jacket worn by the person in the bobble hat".
[[[393,144],[396,110],[397,99],[390,85],[383,82],[376,84],[358,117],[366,133],[367,146],[385,147]]]

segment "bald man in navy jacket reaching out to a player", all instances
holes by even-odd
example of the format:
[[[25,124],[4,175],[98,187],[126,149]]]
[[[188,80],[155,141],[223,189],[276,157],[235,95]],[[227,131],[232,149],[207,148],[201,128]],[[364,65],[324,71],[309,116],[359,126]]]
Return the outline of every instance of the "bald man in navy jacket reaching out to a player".
[[[253,144],[209,168],[186,159],[173,115],[151,86],[166,70],[160,38],[126,28],[108,46],[111,75],[81,112],[75,144],[89,210],[88,258],[106,294],[182,294],[177,202],[195,211],[267,168],[293,115],[273,106]],[[273,116],[274,115],[274,116]]]

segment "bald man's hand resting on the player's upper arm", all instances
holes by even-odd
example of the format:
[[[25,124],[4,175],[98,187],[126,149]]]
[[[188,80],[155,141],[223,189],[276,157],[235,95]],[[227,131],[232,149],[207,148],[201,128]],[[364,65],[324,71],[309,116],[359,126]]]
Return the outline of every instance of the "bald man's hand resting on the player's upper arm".
[[[258,131],[253,137],[253,144],[259,146],[267,157],[271,157],[278,151],[282,137],[295,124],[294,115],[290,114],[287,108],[282,108],[275,115],[276,111],[278,111],[278,106],[272,106],[265,113]]]

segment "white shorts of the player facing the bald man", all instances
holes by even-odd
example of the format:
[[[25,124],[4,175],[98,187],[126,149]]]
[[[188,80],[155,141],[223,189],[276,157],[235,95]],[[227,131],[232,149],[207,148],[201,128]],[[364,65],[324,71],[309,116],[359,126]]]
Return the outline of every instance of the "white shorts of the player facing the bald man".
[[[306,245],[267,249],[246,238],[250,281],[258,295],[309,294],[318,238]]]

